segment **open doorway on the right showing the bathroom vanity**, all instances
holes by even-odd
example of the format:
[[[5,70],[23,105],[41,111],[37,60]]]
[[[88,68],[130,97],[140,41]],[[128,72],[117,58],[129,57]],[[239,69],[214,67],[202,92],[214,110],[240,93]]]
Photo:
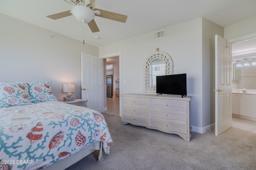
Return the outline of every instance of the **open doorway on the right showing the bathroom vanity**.
[[[232,127],[256,133],[256,38],[242,39],[232,44]],[[249,63],[246,65],[245,63]],[[241,66],[237,66],[240,63]],[[245,93],[243,92],[245,89]],[[254,98],[250,99],[249,97]],[[246,106],[244,105],[246,104]],[[251,108],[254,107],[254,108]],[[250,114],[254,113],[254,114]]]

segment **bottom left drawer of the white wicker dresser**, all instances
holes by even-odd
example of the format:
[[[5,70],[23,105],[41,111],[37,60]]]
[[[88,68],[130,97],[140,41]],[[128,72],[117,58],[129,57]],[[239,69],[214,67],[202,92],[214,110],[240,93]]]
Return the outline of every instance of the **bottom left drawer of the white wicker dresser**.
[[[131,124],[149,126],[149,118],[145,117],[145,116],[131,115],[128,113],[123,113],[122,120],[129,122]]]

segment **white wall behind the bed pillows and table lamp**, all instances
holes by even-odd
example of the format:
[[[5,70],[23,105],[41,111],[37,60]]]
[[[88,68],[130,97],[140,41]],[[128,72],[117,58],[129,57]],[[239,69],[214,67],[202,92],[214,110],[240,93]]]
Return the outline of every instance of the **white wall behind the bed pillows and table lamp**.
[[[51,80],[58,100],[66,95],[62,84],[71,82],[74,98],[81,98],[81,52],[98,56],[98,47],[4,14],[0,19],[0,81]]]

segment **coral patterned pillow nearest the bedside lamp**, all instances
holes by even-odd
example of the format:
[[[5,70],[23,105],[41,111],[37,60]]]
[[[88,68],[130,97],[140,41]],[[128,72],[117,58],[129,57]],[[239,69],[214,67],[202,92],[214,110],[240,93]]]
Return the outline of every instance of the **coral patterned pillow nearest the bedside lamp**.
[[[52,94],[52,82],[28,82],[30,102],[57,100]]]

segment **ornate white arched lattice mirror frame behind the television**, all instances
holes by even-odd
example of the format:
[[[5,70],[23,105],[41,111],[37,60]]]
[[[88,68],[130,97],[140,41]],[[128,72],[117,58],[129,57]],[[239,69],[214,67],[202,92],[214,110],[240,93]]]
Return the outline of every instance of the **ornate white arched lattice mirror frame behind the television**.
[[[164,53],[162,51],[159,51],[158,48],[156,48],[156,51],[154,53],[151,53],[144,63],[144,90],[143,92],[151,92],[156,93],[156,86],[150,86],[150,64],[154,59],[160,59],[164,61],[165,64],[165,75],[171,75],[173,74],[173,63],[172,58],[167,53]]]

